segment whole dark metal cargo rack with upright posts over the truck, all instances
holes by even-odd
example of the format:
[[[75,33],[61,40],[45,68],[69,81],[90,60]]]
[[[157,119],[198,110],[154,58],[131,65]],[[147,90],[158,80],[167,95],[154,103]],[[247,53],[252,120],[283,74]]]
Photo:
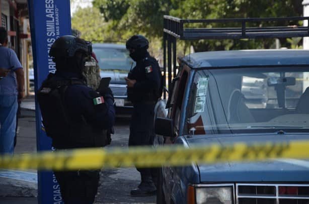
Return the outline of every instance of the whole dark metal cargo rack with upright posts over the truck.
[[[176,73],[176,40],[200,39],[256,39],[256,38],[291,38],[309,36],[309,27],[295,25],[295,22],[309,20],[309,17],[285,18],[244,18],[244,19],[179,19],[164,16],[164,75],[168,65],[169,89],[172,82],[172,44],[173,44],[173,73]],[[249,24],[259,22],[293,22],[287,26],[258,26],[250,27]],[[239,27],[212,28],[211,24],[238,24]],[[196,27],[196,24],[207,24],[206,28]],[[296,23],[298,24],[298,23]],[[186,25],[186,28],[185,28]],[[240,27],[241,25],[241,27]],[[195,27],[194,27],[195,26]],[[208,28],[209,27],[209,28]],[[167,64],[166,64],[167,63]],[[176,74],[174,75],[176,76]],[[166,81],[164,80],[164,86]],[[166,92],[164,93],[166,98]]]

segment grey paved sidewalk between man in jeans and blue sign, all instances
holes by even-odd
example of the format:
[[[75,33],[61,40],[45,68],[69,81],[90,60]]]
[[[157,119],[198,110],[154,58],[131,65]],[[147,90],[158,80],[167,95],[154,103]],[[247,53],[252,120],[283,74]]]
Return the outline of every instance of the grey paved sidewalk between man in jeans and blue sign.
[[[34,95],[26,97],[21,104],[21,117],[15,153],[36,152]],[[0,170],[1,204],[37,204],[36,170]]]

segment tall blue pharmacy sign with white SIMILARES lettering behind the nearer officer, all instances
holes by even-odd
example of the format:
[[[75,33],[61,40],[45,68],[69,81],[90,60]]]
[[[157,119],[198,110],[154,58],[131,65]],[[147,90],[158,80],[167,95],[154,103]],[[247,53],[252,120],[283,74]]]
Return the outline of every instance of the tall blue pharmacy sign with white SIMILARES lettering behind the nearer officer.
[[[48,56],[51,45],[71,33],[69,0],[28,0],[35,90],[48,73],[55,72],[55,63]],[[52,150],[51,139],[42,130],[41,113],[36,101],[37,150]],[[38,202],[62,203],[59,185],[52,171],[38,171]]]

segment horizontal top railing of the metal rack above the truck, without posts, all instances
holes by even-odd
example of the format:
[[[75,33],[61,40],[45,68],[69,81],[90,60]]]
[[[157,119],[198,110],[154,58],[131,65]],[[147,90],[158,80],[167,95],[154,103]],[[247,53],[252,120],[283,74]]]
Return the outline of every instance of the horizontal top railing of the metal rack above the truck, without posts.
[[[251,38],[290,38],[308,36],[308,26],[260,26],[248,27],[250,23],[260,22],[297,22],[309,20],[309,17],[285,18],[245,18],[245,19],[179,19],[164,16],[164,32],[181,40],[199,39],[251,39]],[[208,24],[209,28],[194,28],[196,23]],[[212,28],[211,23],[241,24],[242,27]],[[184,28],[187,24],[188,28]]]

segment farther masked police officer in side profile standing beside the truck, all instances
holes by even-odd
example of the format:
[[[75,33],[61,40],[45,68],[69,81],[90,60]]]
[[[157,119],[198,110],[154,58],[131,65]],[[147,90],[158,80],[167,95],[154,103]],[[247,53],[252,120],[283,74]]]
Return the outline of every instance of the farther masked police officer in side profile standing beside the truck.
[[[129,146],[152,145],[154,109],[160,95],[161,71],[157,60],[147,51],[149,42],[141,35],[134,35],[126,42],[130,57],[136,66],[130,70],[127,82],[128,99],[133,103],[130,123]],[[141,182],[131,190],[132,196],[156,193],[157,173],[151,168],[137,168]]]

